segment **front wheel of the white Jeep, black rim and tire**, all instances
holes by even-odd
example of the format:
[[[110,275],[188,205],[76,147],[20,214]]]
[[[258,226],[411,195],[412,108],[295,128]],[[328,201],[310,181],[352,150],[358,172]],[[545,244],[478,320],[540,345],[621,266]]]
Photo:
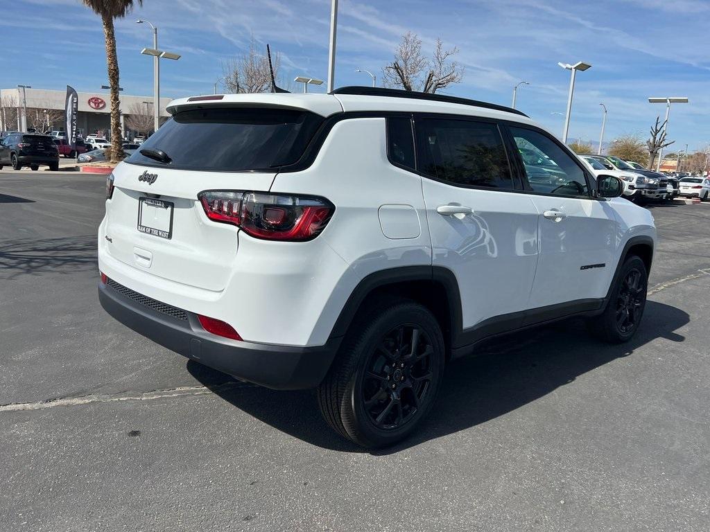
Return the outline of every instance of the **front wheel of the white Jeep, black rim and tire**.
[[[628,342],[638,330],[646,306],[648,272],[636,255],[627,257],[603,313],[589,321],[591,331],[608,343]]]

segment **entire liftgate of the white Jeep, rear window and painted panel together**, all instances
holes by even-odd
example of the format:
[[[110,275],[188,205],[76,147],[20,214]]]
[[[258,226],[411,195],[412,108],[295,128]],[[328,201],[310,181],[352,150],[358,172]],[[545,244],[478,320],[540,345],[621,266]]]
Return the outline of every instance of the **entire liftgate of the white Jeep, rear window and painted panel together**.
[[[224,289],[239,229],[209,220],[198,194],[268,191],[278,168],[300,158],[322,121],[308,111],[254,106],[175,113],[114,170],[107,253],[151,275]]]

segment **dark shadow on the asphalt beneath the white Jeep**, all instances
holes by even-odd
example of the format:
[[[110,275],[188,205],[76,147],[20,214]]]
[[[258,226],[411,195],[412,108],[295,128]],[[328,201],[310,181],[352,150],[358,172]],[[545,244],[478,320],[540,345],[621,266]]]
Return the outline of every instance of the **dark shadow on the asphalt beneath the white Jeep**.
[[[413,436],[371,453],[397,453],[503,416],[657,338],[682,342],[684,336],[674,331],[688,321],[686,312],[648,301],[638,332],[621,345],[594,339],[579,318],[490,340],[476,355],[449,364],[432,412]],[[225,385],[230,377],[192,361],[187,370],[236,408],[295,438],[330,450],[368,452],[327,426],[312,390],[278,392],[236,380]]]

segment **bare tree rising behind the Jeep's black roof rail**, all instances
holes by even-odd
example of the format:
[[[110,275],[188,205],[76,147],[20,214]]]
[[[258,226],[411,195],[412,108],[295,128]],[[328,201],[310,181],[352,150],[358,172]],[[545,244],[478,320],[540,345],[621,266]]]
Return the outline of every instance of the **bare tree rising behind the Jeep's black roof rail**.
[[[441,38],[437,38],[432,59],[428,60],[422,55],[422,40],[416,33],[408,31],[402,35],[394,61],[383,68],[384,84],[405,91],[434,94],[461,82],[464,70],[452,59],[457,53],[459,49],[456,47],[445,50]]]

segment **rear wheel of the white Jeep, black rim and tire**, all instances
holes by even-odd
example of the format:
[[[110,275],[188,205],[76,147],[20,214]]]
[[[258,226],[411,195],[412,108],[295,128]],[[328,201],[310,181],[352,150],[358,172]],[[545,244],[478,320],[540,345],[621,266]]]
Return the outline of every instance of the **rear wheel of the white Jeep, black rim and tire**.
[[[344,438],[366,448],[393,445],[430,411],[443,372],[444,338],[432,313],[407,299],[382,299],[353,321],[318,387],[318,404]]]

